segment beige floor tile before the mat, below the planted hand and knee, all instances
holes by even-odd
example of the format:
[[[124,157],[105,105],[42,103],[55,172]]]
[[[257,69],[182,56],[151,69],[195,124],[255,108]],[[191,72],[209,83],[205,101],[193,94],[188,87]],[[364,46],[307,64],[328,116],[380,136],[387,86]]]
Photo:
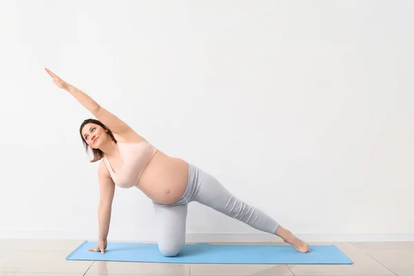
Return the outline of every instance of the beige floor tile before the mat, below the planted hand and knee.
[[[190,275],[189,264],[103,262],[97,261],[88,270],[90,274],[123,275]]]

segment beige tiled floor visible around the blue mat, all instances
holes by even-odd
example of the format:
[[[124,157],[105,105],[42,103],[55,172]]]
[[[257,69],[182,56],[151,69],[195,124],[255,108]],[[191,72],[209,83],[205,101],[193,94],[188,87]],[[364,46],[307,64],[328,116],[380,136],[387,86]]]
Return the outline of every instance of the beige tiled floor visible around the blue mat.
[[[0,239],[0,276],[103,275],[406,275],[414,276],[414,242],[334,243],[350,265],[152,264],[67,261],[83,241]],[[311,243],[311,245],[332,243]]]

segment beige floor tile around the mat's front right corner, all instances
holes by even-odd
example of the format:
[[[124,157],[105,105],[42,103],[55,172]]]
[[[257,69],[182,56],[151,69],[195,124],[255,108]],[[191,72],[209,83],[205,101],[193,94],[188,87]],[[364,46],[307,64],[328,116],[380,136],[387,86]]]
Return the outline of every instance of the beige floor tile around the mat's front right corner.
[[[295,275],[394,275],[368,255],[351,257],[353,264],[289,264]]]

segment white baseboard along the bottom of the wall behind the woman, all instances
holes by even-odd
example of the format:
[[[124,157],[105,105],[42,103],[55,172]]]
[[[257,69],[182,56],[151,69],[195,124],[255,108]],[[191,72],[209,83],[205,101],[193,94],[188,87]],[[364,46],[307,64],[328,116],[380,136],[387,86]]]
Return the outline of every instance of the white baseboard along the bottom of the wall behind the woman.
[[[296,233],[306,242],[406,242],[414,241],[414,233],[406,234],[335,234]],[[85,230],[10,230],[0,228],[0,239],[82,239],[96,240],[97,232]],[[112,241],[157,241],[156,233],[113,231]],[[282,239],[266,233],[187,233],[187,242],[282,242]]]

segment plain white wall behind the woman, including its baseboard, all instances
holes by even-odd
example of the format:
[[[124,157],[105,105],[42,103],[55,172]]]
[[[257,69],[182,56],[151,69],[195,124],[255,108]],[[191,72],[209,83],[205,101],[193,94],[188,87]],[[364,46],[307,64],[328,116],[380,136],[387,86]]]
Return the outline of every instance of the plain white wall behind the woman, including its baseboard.
[[[1,1],[0,237],[97,238],[92,117],[57,73],[168,155],[313,240],[414,239],[411,1]],[[191,204],[190,240],[273,240]],[[248,235],[250,234],[250,235]],[[117,188],[109,239],[155,239]]]

